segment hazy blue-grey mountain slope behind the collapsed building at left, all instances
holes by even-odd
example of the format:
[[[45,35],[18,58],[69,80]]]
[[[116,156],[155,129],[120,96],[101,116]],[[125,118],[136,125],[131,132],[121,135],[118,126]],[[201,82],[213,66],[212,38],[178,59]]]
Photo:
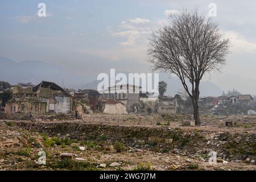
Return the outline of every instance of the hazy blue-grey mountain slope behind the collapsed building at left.
[[[92,79],[88,77],[80,77],[70,72],[68,69],[48,64],[43,61],[20,61],[0,57],[0,80],[8,81],[10,84],[17,82],[32,82],[38,84],[40,81],[52,81],[65,87],[80,88],[82,84],[90,82]]]

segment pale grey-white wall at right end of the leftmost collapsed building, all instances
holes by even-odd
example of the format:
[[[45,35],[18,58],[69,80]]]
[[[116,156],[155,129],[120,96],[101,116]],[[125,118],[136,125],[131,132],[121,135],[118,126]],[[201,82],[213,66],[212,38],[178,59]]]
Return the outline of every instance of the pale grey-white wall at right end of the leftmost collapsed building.
[[[56,113],[69,113],[70,111],[70,98],[69,97],[55,97],[55,112]]]

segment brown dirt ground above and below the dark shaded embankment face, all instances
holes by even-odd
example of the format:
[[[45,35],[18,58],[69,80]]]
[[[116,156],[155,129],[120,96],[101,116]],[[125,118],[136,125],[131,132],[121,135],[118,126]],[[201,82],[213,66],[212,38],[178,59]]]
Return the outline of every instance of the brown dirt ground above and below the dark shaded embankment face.
[[[215,116],[202,115],[201,126],[181,126],[182,121],[191,120],[191,115],[110,115],[110,114],[86,114],[80,120],[42,120],[35,118],[35,121],[13,121],[8,119],[0,120],[0,170],[255,170],[255,126],[256,117],[247,115]],[[226,121],[233,121],[232,127],[225,127]],[[21,124],[20,124],[21,123]],[[23,127],[26,123],[26,127]],[[29,127],[30,123],[42,125],[46,130],[38,131],[35,127]],[[195,131],[201,134],[207,133],[217,136],[218,133],[236,135],[245,141],[252,141],[250,155],[243,155],[241,159],[232,159],[235,154],[229,156],[218,155],[216,164],[209,164],[210,150],[206,144],[200,145],[197,142],[197,150],[203,152],[190,152],[186,146],[180,147],[177,144],[169,148],[158,146],[146,147],[141,138],[133,140],[134,144],[119,142],[110,135],[112,134],[101,129],[102,134],[98,138],[84,136],[86,139],[74,138],[69,131],[65,133],[63,128],[60,133],[51,134],[47,130],[48,124],[58,123],[59,125],[82,125],[97,124],[97,126],[129,127],[139,126],[162,130],[179,128],[185,132]],[[82,123],[82,124],[81,124]],[[162,129],[162,130],[160,130]],[[68,128],[67,128],[68,130]],[[63,131],[64,133],[61,133]],[[58,132],[57,132],[58,133]],[[103,134],[104,133],[104,134]],[[108,134],[108,135],[107,135]],[[196,133],[197,134],[197,133]],[[86,134],[84,134],[86,135]],[[96,135],[96,134],[95,134]],[[246,137],[244,137],[246,135]],[[186,135],[187,136],[187,135]],[[250,137],[248,137],[250,136]],[[92,137],[92,138],[90,138]],[[89,139],[88,139],[89,138]],[[142,136],[143,138],[143,136]],[[146,137],[144,137],[146,138]],[[229,143],[230,139],[202,139],[202,143],[212,142],[212,147]],[[138,142],[139,141],[139,142]],[[145,140],[146,141],[146,140]],[[194,142],[194,141],[192,141]],[[192,143],[191,142],[191,143]],[[215,143],[214,143],[215,142]],[[242,142],[237,142],[239,147]],[[255,143],[254,143],[255,142]],[[141,144],[138,144],[141,143]],[[234,142],[233,142],[234,143]],[[232,144],[233,144],[232,143]],[[164,145],[164,144],[163,144]],[[188,145],[189,146],[189,145]],[[200,148],[201,146],[201,148]],[[85,147],[84,150],[81,147]],[[162,148],[161,148],[162,147]],[[159,150],[160,148],[160,150]],[[185,148],[185,149],[184,149]],[[229,148],[230,149],[230,148]],[[222,149],[221,149],[222,150]],[[233,148],[232,148],[233,150]],[[40,156],[39,151],[46,152],[46,165],[36,164]],[[68,153],[68,156],[61,158],[61,154]],[[245,152],[243,152],[244,154]],[[72,158],[72,159],[69,159]]]

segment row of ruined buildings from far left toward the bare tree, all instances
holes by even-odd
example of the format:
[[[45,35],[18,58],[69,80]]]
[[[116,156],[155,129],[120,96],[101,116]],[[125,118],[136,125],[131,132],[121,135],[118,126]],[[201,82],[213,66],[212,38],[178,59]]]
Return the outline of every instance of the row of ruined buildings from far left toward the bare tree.
[[[123,92],[122,87],[127,88]],[[138,89],[139,92],[133,92]],[[176,100],[172,97],[155,97],[142,93],[141,87],[119,85],[99,93],[92,89],[64,89],[59,85],[42,81],[38,85],[17,84],[11,91],[13,98],[6,103],[6,113],[176,113]],[[152,99],[154,98],[154,99]]]

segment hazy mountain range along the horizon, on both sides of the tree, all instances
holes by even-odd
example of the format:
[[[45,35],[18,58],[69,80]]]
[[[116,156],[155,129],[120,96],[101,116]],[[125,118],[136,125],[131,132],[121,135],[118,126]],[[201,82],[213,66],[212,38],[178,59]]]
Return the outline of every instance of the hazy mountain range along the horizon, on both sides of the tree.
[[[124,71],[128,75],[128,72]],[[116,73],[117,74],[117,73]],[[95,80],[89,76],[79,76],[72,73],[68,69],[64,69],[57,65],[45,63],[43,61],[14,61],[5,57],[0,57],[0,81],[8,81],[10,84],[17,82],[32,82],[38,84],[40,81],[52,81],[64,87],[73,89],[97,89],[97,85],[101,81]],[[167,73],[159,74],[159,81],[167,82],[167,96],[174,96],[183,89],[177,77],[170,77]],[[200,84],[200,96],[221,96],[221,89],[212,82],[203,81]]]

